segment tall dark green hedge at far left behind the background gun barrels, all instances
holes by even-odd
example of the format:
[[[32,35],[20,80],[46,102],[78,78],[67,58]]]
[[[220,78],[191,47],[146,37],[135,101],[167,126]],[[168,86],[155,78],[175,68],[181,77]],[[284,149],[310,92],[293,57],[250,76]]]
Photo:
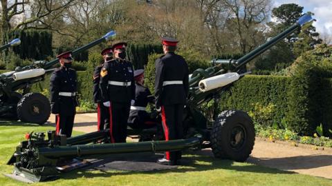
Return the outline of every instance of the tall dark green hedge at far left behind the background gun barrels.
[[[46,59],[52,56],[52,33],[47,30],[16,30],[4,34],[3,41],[19,38],[21,44],[13,48],[21,59]]]

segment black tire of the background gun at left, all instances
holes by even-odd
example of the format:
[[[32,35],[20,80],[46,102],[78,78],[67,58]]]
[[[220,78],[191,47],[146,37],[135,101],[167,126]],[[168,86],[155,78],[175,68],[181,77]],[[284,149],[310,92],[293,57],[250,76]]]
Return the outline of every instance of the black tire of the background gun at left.
[[[40,93],[25,94],[17,103],[17,116],[21,121],[43,125],[50,117],[50,101]]]

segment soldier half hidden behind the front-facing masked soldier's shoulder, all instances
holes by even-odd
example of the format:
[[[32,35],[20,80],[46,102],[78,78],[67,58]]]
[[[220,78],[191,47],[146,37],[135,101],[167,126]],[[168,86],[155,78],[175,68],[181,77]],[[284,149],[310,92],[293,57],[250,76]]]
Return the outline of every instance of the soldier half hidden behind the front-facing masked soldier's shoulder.
[[[102,97],[100,95],[100,71],[102,70],[102,66],[104,63],[108,63],[113,59],[113,51],[111,48],[105,48],[101,52],[102,54],[102,63],[95,68],[93,72],[93,101],[97,103],[97,111],[98,111],[98,131],[106,130],[109,128],[109,107],[105,107],[102,104]]]

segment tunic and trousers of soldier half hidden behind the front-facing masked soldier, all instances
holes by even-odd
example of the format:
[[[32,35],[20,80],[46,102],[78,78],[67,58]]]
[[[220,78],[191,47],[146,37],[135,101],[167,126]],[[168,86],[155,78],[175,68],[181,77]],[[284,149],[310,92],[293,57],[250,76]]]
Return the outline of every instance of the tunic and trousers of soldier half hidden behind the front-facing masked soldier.
[[[93,72],[93,101],[97,103],[98,131],[109,128],[109,108],[102,104],[102,96],[99,88],[102,66],[103,65],[99,65]]]

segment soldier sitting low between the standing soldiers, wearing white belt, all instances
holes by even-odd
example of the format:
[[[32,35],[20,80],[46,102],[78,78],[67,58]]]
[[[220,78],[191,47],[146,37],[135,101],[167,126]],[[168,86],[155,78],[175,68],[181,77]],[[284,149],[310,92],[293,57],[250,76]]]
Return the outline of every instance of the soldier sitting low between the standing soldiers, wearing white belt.
[[[144,86],[144,70],[135,70],[133,74],[136,86],[135,103],[130,107],[128,123],[133,128],[148,128],[156,125],[156,120],[153,120],[146,111],[147,103],[153,103],[154,96],[151,95],[149,88]]]

